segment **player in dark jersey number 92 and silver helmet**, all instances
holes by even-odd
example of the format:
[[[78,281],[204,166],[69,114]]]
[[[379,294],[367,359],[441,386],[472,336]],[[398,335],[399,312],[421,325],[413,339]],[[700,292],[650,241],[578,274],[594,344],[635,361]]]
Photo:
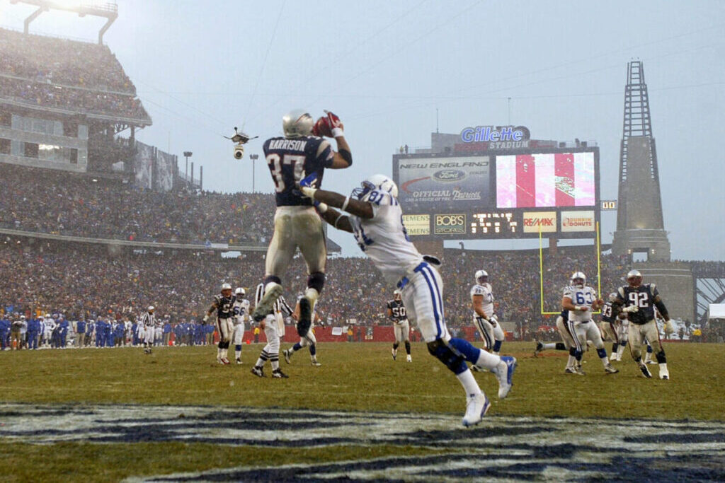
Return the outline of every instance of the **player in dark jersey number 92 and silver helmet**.
[[[642,274],[631,270],[627,274],[627,284],[617,290],[616,305],[623,306],[623,312],[629,318],[629,350],[634,362],[645,377],[652,377],[647,364],[642,361],[642,344],[645,340],[652,345],[660,366],[660,379],[669,379],[665,350],[660,343],[660,331],[655,322],[655,307],[665,319],[665,332],[672,332],[670,315],[660,298],[657,286],[653,283],[642,284]]]

